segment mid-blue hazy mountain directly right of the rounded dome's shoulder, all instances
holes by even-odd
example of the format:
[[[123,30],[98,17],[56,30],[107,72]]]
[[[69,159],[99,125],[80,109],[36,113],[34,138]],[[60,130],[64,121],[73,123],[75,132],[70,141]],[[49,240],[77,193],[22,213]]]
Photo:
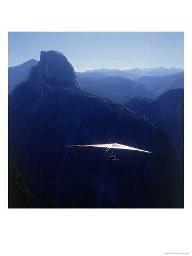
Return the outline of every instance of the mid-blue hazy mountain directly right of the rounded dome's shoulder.
[[[119,103],[126,102],[131,97],[155,97],[145,89],[144,85],[124,77],[78,77],[78,79],[86,92]]]

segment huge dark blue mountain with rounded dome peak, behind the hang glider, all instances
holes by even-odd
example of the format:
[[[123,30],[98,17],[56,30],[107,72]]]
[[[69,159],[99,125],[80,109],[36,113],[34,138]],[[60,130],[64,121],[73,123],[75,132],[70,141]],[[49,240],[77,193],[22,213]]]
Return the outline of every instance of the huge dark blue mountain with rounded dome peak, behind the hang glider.
[[[67,147],[112,140],[152,154],[119,150],[107,164],[103,148]],[[183,170],[165,131],[84,92],[59,52],[41,52],[9,95],[9,157],[35,207],[51,199],[56,208],[183,208]]]

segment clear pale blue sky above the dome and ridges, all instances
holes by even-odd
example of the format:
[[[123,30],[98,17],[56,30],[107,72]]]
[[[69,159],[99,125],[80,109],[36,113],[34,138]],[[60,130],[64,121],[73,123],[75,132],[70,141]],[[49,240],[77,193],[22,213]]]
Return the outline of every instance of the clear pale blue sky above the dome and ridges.
[[[9,67],[40,51],[62,52],[74,69],[156,68],[184,65],[183,32],[9,32]]]

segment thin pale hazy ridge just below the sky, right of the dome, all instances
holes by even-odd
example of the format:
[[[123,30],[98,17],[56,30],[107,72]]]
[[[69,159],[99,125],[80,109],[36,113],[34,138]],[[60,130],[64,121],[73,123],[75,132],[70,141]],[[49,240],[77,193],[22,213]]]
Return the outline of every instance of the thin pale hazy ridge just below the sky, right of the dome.
[[[139,77],[136,76],[133,73],[128,73],[119,69],[106,69],[106,68],[102,68],[102,69],[94,69],[94,70],[86,70],[85,73],[103,73],[106,76],[121,76],[127,79],[131,79],[133,81],[136,81]]]

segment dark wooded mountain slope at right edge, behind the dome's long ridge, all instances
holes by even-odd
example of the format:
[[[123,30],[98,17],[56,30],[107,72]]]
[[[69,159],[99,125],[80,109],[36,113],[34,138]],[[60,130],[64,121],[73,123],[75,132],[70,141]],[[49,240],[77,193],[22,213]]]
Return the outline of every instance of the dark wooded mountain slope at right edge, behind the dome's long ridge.
[[[132,98],[125,106],[149,117],[168,133],[181,162],[184,162],[184,90],[172,89],[156,100]]]

